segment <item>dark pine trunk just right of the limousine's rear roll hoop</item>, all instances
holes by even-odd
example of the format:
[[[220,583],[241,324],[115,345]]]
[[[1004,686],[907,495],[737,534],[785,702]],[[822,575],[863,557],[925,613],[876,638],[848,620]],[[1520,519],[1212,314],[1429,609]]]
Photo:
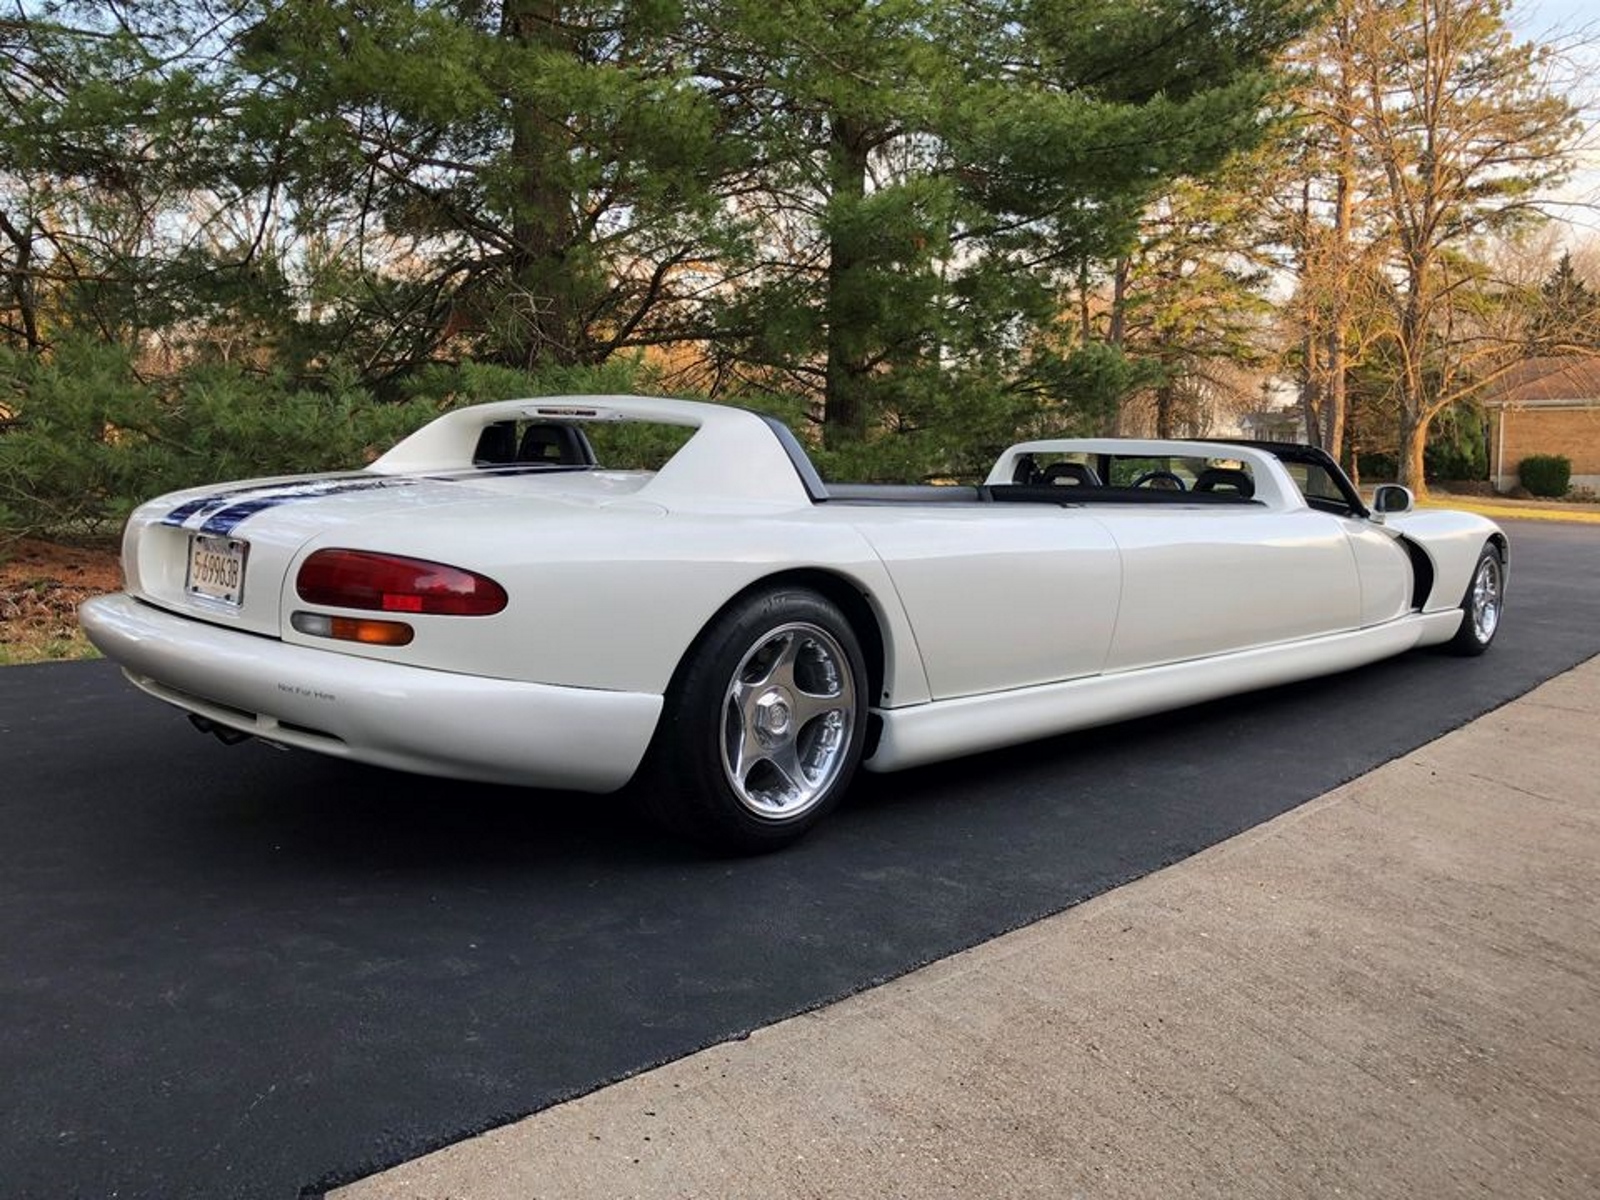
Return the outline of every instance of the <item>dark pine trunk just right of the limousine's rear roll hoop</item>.
[[[870,262],[859,243],[856,211],[867,194],[867,131],[835,114],[829,130],[832,205],[850,219],[827,230],[827,376],[822,405],[822,445],[837,450],[867,435],[872,381]]]

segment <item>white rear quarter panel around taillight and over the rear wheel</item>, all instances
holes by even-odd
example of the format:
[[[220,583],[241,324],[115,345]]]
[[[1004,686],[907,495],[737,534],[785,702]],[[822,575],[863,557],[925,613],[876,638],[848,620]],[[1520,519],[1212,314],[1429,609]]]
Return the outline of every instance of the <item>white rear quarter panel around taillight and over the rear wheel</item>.
[[[419,528],[403,520],[362,530],[360,549],[405,554],[480,571],[509,595],[486,618],[408,616],[416,640],[400,650],[346,653],[494,678],[578,688],[664,693],[696,635],[741,590],[773,574],[822,570],[867,595],[885,634],[885,691],[926,699],[926,682],[894,589],[872,547],[843,522],[810,510],[667,514],[611,506],[560,520],[494,518]],[[285,581],[285,613],[299,562],[338,534],[307,542]],[[325,611],[325,610],[320,610]],[[326,642],[296,634],[286,642]],[[904,653],[904,648],[912,648]]]

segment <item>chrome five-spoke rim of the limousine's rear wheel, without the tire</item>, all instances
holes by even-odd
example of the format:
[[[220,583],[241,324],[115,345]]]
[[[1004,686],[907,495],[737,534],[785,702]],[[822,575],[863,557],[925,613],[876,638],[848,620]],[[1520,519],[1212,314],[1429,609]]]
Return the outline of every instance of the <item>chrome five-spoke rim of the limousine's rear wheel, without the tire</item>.
[[[779,626],[750,646],[728,683],[728,786],[757,816],[798,816],[838,779],[854,726],[856,685],[845,648],[821,626]]]

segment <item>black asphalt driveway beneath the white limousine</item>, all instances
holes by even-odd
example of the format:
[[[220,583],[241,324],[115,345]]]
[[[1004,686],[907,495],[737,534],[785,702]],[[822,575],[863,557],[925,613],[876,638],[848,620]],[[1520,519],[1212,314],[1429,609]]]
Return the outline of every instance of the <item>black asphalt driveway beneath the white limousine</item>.
[[[758,861],[226,749],[107,664],[6,669],[3,1190],[317,1194],[1192,854],[1600,653],[1600,531],[1510,533],[1483,659],[869,776]]]

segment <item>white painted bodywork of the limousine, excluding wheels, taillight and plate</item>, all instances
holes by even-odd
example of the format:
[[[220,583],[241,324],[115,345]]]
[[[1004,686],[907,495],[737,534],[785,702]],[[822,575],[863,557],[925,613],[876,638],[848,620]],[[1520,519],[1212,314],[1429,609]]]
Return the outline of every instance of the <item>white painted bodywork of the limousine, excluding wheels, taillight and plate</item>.
[[[698,432],[653,474],[475,469],[483,427],[510,419]],[[1478,554],[1502,541],[1469,514],[1318,510],[1251,446],[1030,442],[1002,454],[989,483],[1037,453],[1227,459],[1248,467],[1254,498],[829,496],[752,413],[515,400],[448,413],[366,470],[152,501],[125,534],[126,594],[88,602],[82,618],[138,686],[216,725],[432,774],[611,790],[640,763],[701,630],[778,576],[862,598],[862,642],[882,659],[866,766],[894,770],[1446,642]],[[237,606],[186,592],[202,531],[248,542]],[[406,614],[405,646],[299,632],[296,611],[342,614],[294,587],[328,547],[472,570],[509,603]],[[1432,574],[1421,611],[1419,571]]]

